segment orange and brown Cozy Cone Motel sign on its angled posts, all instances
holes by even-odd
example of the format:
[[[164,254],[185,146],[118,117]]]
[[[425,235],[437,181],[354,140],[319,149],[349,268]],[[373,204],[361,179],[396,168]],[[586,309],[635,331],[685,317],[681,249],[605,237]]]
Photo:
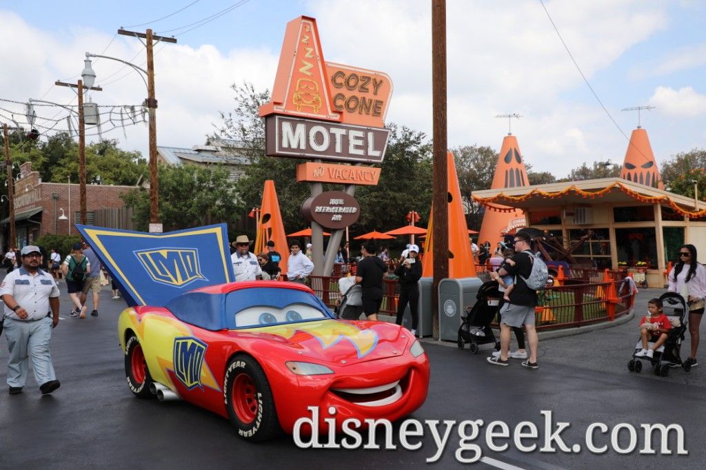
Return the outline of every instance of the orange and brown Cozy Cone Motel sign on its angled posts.
[[[330,274],[344,229],[359,217],[356,186],[380,179],[379,168],[361,164],[385,157],[392,90],[385,73],[324,61],[314,18],[287,23],[272,100],[260,107],[260,116],[266,155],[311,160],[299,165],[297,181],[311,186],[301,210],[311,220],[314,275]],[[323,193],[323,183],[341,183],[345,190]],[[322,226],[334,229],[325,255]]]

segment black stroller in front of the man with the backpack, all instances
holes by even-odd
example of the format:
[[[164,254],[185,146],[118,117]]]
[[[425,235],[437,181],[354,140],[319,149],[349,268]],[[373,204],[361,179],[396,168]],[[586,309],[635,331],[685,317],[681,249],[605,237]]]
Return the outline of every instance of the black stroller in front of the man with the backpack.
[[[476,295],[476,303],[467,307],[465,316],[458,329],[458,349],[463,349],[466,343],[470,344],[470,351],[478,353],[479,344],[493,343],[499,349],[498,341],[493,335],[490,323],[498,313],[498,303],[503,294],[498,291],[498,282],[488,281],[481,285]]]

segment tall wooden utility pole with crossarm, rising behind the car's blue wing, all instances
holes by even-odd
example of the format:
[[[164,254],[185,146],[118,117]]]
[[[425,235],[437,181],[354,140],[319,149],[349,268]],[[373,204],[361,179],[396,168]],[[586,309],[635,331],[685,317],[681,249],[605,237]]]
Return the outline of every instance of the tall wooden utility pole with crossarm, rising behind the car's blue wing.
[[[152,52],[152,41],[176,43],[177,40],[174,37],[152,35],[152,30],[147,30],[146,34],[143,34],[142,32],[127,31],[121,28],[118,30],[118,34],[145,39],[145,42],[143,42],[147,49],[147,100],[145,100],[145,104],[148,107],[150,129],[150,232],[161,232],[162,224],[160,224],[158,200],[160,182],[159,176],[157,176],[157,99],[155,98],[155,60]],[[142,41],[140,40],[140,42]]]

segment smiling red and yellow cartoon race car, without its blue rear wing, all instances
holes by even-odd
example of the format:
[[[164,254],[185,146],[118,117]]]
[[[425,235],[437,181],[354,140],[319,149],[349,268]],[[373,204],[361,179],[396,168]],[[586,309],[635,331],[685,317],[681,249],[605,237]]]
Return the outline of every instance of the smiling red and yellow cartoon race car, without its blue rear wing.
[[[347,418],[395,421],[429,386],[429,359],[407,330],[338,320],[290,282],[220,284],[126,308],[118,334],[133,394],[202,406],[253,441],[292,433],[308,406],[321,410],[323,432],[331,406],[339,431]]]

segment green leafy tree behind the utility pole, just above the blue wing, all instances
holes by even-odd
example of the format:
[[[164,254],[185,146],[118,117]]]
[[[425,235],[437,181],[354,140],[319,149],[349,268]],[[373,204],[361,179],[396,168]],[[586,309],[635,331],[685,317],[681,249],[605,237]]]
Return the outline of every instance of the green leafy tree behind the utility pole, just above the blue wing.
[[[231,220],[237,212],[237,193],[223,167],[160,165],[160,219],[164,231],[188,229]],[[136,188],[121,196],[133,207],[138,230],[147,231],[150,221],[150,194]]]

